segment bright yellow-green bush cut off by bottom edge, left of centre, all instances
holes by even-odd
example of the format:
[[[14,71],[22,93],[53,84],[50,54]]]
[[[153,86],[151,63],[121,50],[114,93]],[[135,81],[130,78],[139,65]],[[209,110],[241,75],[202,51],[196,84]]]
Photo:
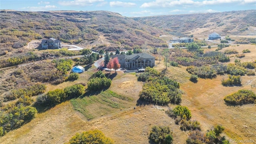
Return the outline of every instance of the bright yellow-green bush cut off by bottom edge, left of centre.
[[[89,130],[77,133],[66,144],[114,144],[114,141],[106,137],[100,130]]]

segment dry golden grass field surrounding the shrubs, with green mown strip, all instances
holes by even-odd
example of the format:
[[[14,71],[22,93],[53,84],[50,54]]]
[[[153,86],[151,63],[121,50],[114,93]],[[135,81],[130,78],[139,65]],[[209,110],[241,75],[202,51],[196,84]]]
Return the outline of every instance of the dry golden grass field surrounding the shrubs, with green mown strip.
[[[256,60],[256,49],[253,45],[229,47],[239,53],[249,49],[242,62]],[[229,48],[224,48],[229,49]],[[215,50],[204,49],[204,50]],[[234,62],[230,58],[230,62]],[[163,61],[156,61],[156,70],[164,72]],[[74,82],[64,82],[48,86],[47,90],[64,88],[76,83],[87,83],[96,70],[80,74]],[[114,72],[111,72],[114,73]],[[182,90],[181,105],[188,106],[192,119],[200,122],[202,131],[206,132],[215,124],[225,127],[227,139],[256,139],[255,105],[228,106],[223,98],[240,89],[256,92],[251,84],[256,84],[256,76],[242,76],[242,86],[225,87],[221,80],[227,75],[213,79],[199,78],[197,83],[189,81],[190,74],[186,67],[168,66],[165,74],[178,82]],[[181,131],[174,120],[165,114],[167,106],[136,106],[142,82],[137,81],[135,73],[119,71],[106,91],[87,93],[83,98],[64,102],[38,113],[28,124],[13,130],[0,138],[3,144],[63,144],[77,132],[99,129],[112,138],[116,144],[148,144],[148,134],[154,125],[170,126],[174,135],[174,144],[186,143],[188,132]],[[174,105],[169,105],[174,107]],[[135,107],[135,109],[134,109]]]

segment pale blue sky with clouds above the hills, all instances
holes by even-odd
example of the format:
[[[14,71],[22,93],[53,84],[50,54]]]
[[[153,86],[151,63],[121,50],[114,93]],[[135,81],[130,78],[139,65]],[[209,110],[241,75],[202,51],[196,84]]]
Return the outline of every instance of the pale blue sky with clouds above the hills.
[[[256,0],[0,0],[20,11],[107,10],[127,17],[256,10]]]

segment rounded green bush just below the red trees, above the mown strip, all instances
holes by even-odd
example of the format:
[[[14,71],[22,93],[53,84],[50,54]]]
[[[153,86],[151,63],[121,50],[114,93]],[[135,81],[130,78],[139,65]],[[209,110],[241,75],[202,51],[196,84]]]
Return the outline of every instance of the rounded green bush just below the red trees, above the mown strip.
[[[102,90],[104,88],[108,88],[111,85],[111,79],[110,78],[92,78],[87,83],[88,90]]]

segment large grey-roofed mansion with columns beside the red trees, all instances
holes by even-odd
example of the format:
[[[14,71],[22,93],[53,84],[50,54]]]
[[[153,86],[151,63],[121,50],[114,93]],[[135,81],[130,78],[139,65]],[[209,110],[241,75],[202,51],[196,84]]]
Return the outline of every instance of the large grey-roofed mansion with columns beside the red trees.
[[[119,64],[121,68],[145,68],[146,66],[153,67],[155,66],[155,57],[146,53],[139,54],[115,54],[112,55],[111,58],[118,58]]]

